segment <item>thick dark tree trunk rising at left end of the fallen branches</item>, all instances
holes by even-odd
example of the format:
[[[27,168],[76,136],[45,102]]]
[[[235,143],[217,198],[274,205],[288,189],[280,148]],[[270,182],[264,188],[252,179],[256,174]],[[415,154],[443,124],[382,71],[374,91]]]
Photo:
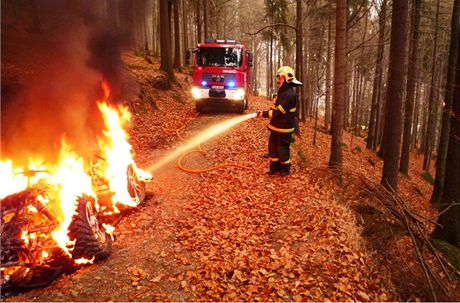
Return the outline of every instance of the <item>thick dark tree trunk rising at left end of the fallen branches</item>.
[[[391,17],[390,65],[385,114],[385,152],[381,183],[396,191],[398,187],[398,163],[401,143],[401,105],[406,63],[408,0],[393,1]]]

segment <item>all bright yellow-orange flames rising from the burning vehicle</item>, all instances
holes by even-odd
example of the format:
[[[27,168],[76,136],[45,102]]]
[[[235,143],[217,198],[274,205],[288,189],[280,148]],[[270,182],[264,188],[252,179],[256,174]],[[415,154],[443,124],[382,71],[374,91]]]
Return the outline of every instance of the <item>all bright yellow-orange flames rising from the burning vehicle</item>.
[[[133,159],[134,152],[128,143],[128,134],[125,127],[131,119],[131,114],[124,106],[109,105],[111,97],[110,87],[102,82],[103,97],[98,100],[98,107],[104,119],[105,128],[103,136],[98,138],[99,147],[102,149],[104,158],[101,167],[101,176],[104,183],[108,183],[112,207],[104,205],[100,213],[119,212],[115,207],[116,203],[135,207],[137,203],[130,196],[128,191],[128,172],[132,170],[137,180],[147,181],[152,175],[139,169]],[[46,205],[46,209],[56,218],[58,226],[51,232],[51,238],[57,245],[71,256],[75,242],[70,241],[68,232],[73,216],[77,212],[79,197],[88,195],[95,198],[95,207],[99,211],[97,195],[94,191],[97,185],[91,179],[93,175],[91,165],[85,165],[84,159],[71,149],[64,139],[58,159],[55,163],[43,164],[40,159],[28,159],[28,166],[16,167],[12,160],[0,160],[0,201],[8,195],[21,192],[27,188],[42,187],[46,185],[46,192],[37,197],[37,201]],[[94,176],[93,176],[94,177]],[[40,183],[41,182],[41,183]],[[93,184],[94,183],[94,184]],[[39,185],[39,186],[37,186]],[[28,215],[34,216],[41,211],[40,207],[27,206]],[[54,222],[53,222],[54,223]],[[54,225],[53,225],[54,226]],[[103,224],[107,234],[112,237],[115,228],[109,224]],[[44,234],[29,233],[28,230],[21,231],[20,238],[26,245],[35,245]],[[37,258],[42,260],[51,258],[48,251],[39,252]],[[75,264],[93,263],[92,259],[74,260]],[[3,273],[2,268],[2,273]],[[5,269],[6,270],[6,269]]]

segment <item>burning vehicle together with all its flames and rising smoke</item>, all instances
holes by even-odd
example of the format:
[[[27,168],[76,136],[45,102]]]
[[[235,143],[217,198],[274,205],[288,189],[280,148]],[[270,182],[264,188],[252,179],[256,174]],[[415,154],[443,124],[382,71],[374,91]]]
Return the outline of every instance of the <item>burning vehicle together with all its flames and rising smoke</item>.
[[[128,44],[101,5],[5,2],[2,295],[46,286],[109,256],[113,214],[145,198],[151,175],[133,160],[130,113],[113,105],[136,88],[121,60]],[[100,89],[101,79],[112,87]]]

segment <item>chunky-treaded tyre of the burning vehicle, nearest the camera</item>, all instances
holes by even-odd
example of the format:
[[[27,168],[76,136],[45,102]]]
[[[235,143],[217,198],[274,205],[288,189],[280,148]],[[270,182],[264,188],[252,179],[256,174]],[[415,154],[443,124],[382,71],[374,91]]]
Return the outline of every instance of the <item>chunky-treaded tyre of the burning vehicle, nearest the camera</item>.
[[[77,212],[69,226],[69,238],[75,241],[72,258],[106,259],[112,252],[112,238],[100,228],[94,198],[83,196],[77,202]]]

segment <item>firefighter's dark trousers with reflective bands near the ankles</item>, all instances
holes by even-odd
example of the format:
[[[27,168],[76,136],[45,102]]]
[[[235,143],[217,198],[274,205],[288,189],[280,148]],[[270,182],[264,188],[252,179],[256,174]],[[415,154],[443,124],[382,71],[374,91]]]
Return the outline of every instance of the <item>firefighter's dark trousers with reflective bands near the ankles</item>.
[[[270,172],[287,172],[291,170],[291,136],[270,132],[268,154],[270,155]]]

